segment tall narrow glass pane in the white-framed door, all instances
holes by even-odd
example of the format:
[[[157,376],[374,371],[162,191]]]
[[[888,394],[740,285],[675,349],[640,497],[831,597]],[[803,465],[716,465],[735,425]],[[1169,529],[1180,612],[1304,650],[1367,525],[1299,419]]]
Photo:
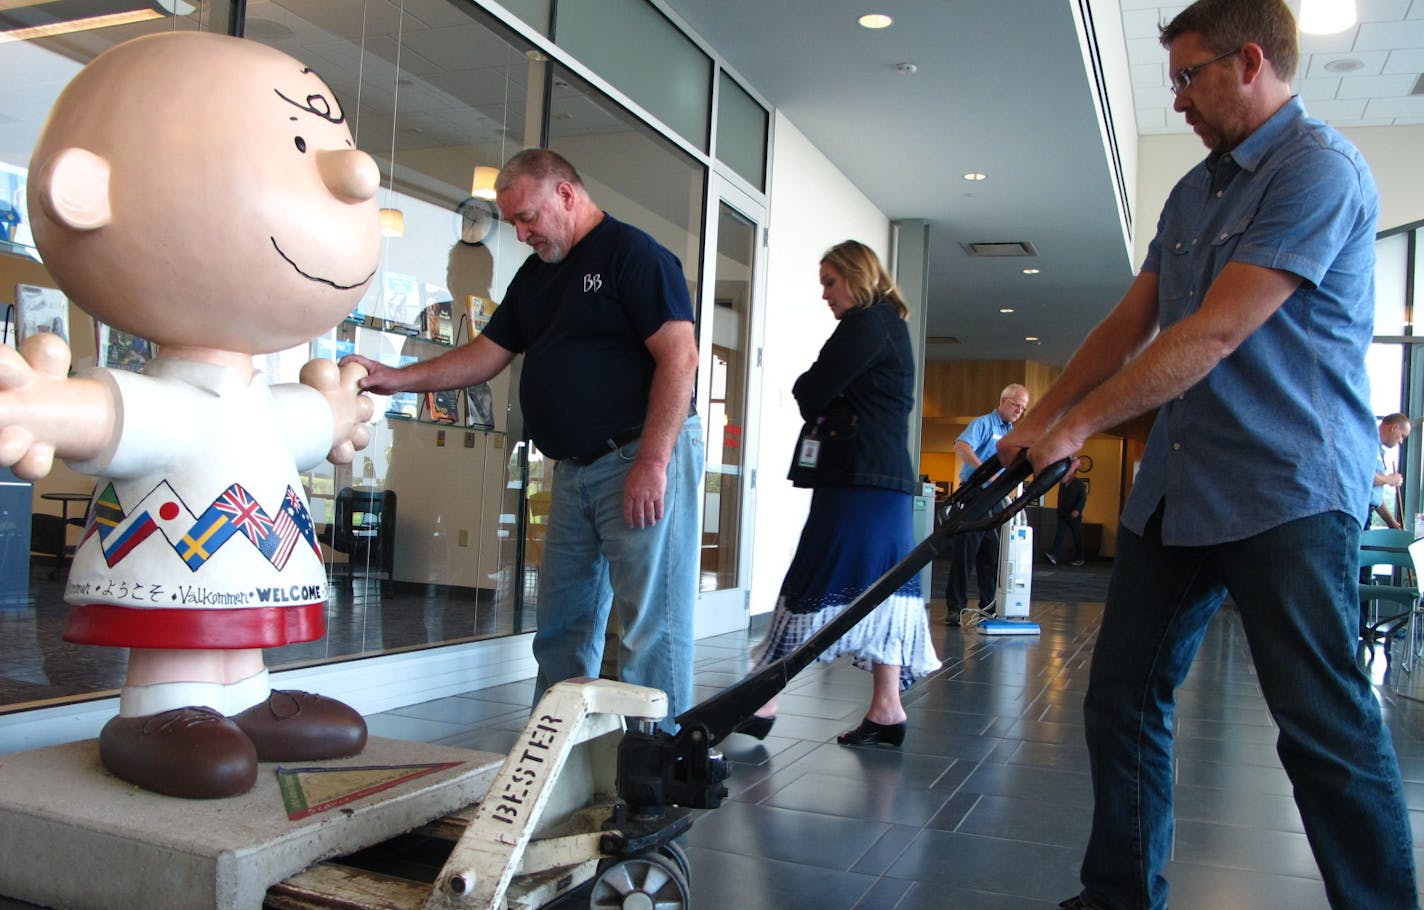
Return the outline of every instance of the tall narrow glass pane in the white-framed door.
[[[742,467],[746,450],[748,332],[756,225],[718,206],[712,382],[706,406],[706,493],[702,510],[702,591],[738,587]],[[703,320],[703,330],[706,330]]]

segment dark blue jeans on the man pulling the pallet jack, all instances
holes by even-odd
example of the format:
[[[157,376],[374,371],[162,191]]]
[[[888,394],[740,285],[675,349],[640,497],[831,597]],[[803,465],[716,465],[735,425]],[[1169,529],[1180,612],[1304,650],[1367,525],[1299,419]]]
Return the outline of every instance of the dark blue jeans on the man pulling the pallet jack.
[[[1398,760],[1354,661],[1358,521],[1324,513],[1242,541],[1166,547],[1161,514],[1141,537],[1119,530],[1092,654],[1082,897],[1101,910],[1166,907],[1173,692],[1230,592],[1330,906],[1417,907]]]

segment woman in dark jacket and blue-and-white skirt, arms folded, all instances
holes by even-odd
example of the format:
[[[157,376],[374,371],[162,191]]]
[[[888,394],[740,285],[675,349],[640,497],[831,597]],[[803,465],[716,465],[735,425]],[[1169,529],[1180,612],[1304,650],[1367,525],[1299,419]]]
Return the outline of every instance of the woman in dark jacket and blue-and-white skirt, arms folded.
[[[900,289],[864,244],[844,241],[820,261],[822,299],[836,330],[792,386],[806,429],[790,480],[810,487],[802,528],[753,672],[779,661],[844,611],[914,547],[911,510],[918,484],[910,463],[914,355]],[[854,655],[871,671],[870,709],[843,745],[904,742],[901,689],[940,668],[930,641],[918,575],[827,648],[822,661]],[[766,736],[768,702],[738,729]]]

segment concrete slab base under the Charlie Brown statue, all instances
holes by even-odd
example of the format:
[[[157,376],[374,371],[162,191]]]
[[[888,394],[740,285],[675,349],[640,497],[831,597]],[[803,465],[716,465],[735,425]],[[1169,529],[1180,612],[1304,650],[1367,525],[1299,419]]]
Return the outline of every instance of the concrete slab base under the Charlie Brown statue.
[[[0,894],[75,910],[259,910],[272,884],[484,796],[503,755],[372,738],[349,759],[282,768],[463,762],[296,822],[278,765],[242,796],[187,800],[124,783],[98,741],[0,755]]]

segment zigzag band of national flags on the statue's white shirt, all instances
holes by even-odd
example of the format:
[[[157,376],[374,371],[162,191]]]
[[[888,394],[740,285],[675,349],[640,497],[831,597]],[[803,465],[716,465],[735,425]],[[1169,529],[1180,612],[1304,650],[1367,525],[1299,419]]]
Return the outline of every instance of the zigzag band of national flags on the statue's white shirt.
[[[112,568],[155,531],[167,538],[178,558],[192,571],[202,568],[232,540],[256,547],[279,571],[298,543],[305,541],[318,558],[322,555],[312,513],[290,486],[273,517],[236,483],[224,490],[201,516],[192,514],[167,480],[128,511],[118,501],[114,484],[108,484],[90,508],[84,538],[98,534],[104,561]]]

